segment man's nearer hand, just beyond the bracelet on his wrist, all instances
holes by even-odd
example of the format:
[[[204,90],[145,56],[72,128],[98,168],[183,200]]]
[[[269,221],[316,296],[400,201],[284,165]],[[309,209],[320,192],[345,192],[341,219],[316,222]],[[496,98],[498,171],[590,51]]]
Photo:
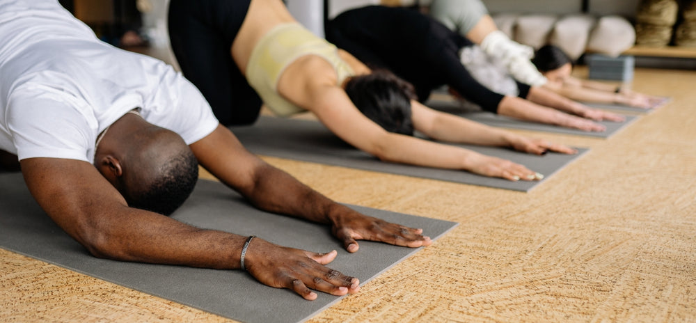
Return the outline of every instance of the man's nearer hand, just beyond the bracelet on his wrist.
[[[324,265],[338,253],[313,253],[253,239],[244,258],[246,270],[264,285],[293,290],[304,299],[313,301],[317,293],[345,295],[360,290],[358,278],[345,276]]]

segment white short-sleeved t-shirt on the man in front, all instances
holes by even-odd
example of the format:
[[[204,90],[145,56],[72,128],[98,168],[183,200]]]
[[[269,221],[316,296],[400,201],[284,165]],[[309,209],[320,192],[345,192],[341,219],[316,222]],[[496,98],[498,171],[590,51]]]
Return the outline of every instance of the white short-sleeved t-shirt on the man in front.
[[[92,163],[98,134],[136,107],[186,143],[218,125],[171,66],[101,42],[57,0],[0,0],[0,150]]]

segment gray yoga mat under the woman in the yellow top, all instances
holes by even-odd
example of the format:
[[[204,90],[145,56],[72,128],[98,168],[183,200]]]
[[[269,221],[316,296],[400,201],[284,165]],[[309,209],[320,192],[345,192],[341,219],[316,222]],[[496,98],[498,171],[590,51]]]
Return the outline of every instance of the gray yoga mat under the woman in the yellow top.
[[[502,178],[489,178],[466,171],[379,161],[379,159],[348,145],[345,141],[332,134],[324,125],[313,120],[261,117],[252,126],[230,127],[230,129],[248,150],[259,155],[514,191],[529,191],[533,189],[571,161],[587,152],[586,149],[580,149],[576,155],[549,152],[544,156],[538,156],[516,152],[507,148],[459,145],[485,155],[515,161],[527,166],[532,171],[545,175],[544,180],[541,181],[530,182],[521,180],[512,182]]]

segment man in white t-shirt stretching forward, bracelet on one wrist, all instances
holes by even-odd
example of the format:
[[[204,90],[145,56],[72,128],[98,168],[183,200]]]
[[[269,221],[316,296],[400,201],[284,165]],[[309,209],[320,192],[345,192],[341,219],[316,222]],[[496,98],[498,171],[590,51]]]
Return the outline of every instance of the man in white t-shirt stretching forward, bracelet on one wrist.
[[[0,0],[0,74],[0,167],[19,161],[43,210],[97,257],[245,269],[305,299],[358,290],[356,278],[324,266],[335,251],[166,216],[193,190],[199,163],[262,210],[328,224],[349,252],[356,239],[431,243],[420,229],[359,214],[255,157],[179,73],[100,42],[57,0]]]

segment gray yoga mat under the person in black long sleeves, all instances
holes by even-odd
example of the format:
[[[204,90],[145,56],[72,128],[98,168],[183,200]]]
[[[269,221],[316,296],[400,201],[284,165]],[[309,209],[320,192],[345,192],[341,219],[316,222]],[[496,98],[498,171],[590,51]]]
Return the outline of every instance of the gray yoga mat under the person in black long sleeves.
[[[514,118],[509,118],[507,116],[500,116],[496,113],[491,113],[488,111],[472,110],[470,107],[463,106],[457,101],[444,101],[444,100],[429,100],[426,102],[428,107],[433,109],[444,111],[448,113],[455,114],[467,118],[469,120],[476,121],[477,123],[483,123],[484,125],[489,125],[491,127],[502,127],[509,129],[521,129],[521,130],[532,130],[539,132],[553,132],[557,134],[573,134],[577,136],[592,136],[597,138],[607,139],[610,136],[617,134],[621,129],[630,125],[635,121],[637,116],[625,116],[626,120],[621,123],[614,123],[611,121],[599,121],[601,125],[606,127],[603,132],[586,132],[578,129],[570,129],[567,127],[559,127],[557,125],[547,125],[544,123],[534,123],[531,121],[523,121]]]

